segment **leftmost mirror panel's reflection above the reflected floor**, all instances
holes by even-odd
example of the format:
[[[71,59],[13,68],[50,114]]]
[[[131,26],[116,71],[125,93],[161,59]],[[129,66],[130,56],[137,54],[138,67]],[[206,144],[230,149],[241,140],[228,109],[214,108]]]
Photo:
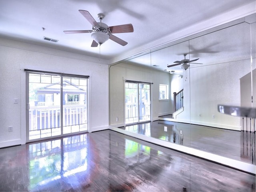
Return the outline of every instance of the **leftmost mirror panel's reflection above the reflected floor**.
[[[110,66],[110,125],[122,127],[125,124],[138,123],[143,119],[151,120],[150,63],[150,52],[148,52]],[[147,110],[140,108],[139,104],[142,102]]]

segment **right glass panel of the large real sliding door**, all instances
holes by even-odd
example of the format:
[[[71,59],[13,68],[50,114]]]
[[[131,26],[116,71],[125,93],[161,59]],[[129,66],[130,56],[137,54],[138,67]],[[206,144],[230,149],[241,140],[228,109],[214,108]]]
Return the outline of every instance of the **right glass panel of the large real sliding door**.
[[[87,79],[63,77],[63,134],[87,131]]]

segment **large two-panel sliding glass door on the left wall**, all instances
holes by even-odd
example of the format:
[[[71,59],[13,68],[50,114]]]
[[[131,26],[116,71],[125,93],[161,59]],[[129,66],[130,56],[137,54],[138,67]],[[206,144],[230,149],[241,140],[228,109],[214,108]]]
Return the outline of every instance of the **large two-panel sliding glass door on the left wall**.
[[[87,78],[27,72],[27,141],[87,131]]]

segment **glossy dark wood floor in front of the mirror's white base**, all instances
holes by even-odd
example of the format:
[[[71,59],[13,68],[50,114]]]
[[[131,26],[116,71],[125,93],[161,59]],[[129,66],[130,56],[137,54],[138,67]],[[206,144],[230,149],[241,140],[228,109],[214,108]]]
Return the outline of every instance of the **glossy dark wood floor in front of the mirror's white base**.
[[[2,148],[0,170],[0,191],[255,191],[251,174],[110,130]]]

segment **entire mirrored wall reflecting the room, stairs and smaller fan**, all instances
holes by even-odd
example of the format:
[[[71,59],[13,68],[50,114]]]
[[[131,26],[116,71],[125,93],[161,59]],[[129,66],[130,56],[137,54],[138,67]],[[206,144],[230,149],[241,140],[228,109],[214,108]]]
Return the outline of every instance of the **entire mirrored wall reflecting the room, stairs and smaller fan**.
[[[218,112],[256,107],[255,18],[111,65],[110,126],[255,164],[255,118]]]

